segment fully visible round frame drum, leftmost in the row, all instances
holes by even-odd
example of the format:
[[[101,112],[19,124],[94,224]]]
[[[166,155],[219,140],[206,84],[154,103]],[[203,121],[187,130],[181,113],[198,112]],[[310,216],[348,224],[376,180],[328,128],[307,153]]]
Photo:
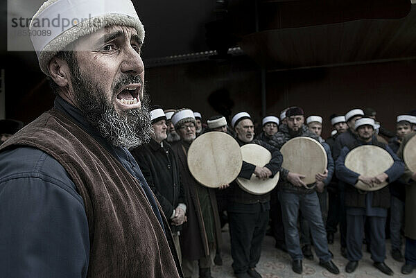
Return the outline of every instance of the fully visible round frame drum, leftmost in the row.
[[[224,132],[207,132],[196,138],[188,150],[188,167],[202,185],[218,188],[239,175],[243,159],[240,146]]]

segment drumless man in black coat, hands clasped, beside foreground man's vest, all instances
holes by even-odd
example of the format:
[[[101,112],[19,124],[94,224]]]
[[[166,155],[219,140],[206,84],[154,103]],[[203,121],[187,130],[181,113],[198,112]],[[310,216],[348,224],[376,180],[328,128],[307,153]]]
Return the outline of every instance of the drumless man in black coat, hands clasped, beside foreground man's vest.
[[[164,215],[171,221],[171,232],[176,251],[182,261],[179,235],[185,220],[187,205],[184,202],[184,191],[180,182],[177,157],[171,145],[166,141],[166,116],[162,107],[153,105],[150,110],[153,133],[150,142],[130,150],[140,166],[146,182],[152,189]]]

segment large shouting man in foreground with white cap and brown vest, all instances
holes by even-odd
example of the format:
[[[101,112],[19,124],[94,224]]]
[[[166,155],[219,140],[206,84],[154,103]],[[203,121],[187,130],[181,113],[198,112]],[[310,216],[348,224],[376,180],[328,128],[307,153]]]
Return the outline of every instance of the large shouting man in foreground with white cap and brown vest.
[[[43,25],[55,18],[71,24]],[[132,2],[49,0],[30,28],[51,31],[31,39],[57,97],[1,146],[1,275],[182,277],[168,222],[128,151],[150,138]]]

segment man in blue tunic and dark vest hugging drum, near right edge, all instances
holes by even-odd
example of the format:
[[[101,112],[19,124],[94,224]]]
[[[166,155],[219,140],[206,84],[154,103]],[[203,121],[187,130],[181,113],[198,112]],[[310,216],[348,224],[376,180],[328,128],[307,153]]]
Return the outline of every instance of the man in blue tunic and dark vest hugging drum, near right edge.
[[[358,139],[351,145],[344,146],[336,161],[336,175],[345,182],[345,207],[347,207],[347,259],[349,263],[345,271],[354,272],[358,261],[363,257],[364,223],[370,224],[370,253],[374,266],[385,275],[393,275],[393,271],[384,263],[385,259],[385,221],[387,209],[390,207],[390,193],[388,186],[376,191],[361,193],[354,187],[358,182],[369,186],[382,182],[394,182],[404,173],[404,163],[385,144],[380,143],[373,136],[376,124],[374,119],[361,118],[355,123]],[[345,166],[345,157],[350,150],[362,145],[379,146],[388,151],[394,163],[387,171],[374,177],[360,175]]]

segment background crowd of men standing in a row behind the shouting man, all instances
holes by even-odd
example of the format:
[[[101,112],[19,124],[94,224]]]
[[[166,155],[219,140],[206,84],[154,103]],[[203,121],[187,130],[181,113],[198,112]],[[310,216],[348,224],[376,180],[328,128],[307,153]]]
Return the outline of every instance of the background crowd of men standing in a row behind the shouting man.
[[[166,171],[172,175],[177,168],[180,172],[180,184],[150,183],[153,183],[151,187],[156,196],[166,190],[166,184],[173,184],[169,186],[171,191],[177,190],[177,186],[183,187],[180,192],[187,196],[187,222],[175,222],[175,194],[168,193],[171,201],[168,211],[164,211],[172,219],[173,230],[177,230],[177,225],[181,226],[177,233],[180,234],[177,248],[184,249],[182,268],[185,277],[198,272],[196,266],[199,266],[200,277],[211,277],[209,269],[212,263],[221,264],[218,249],[220,227],[224,224],[221,218],[224,216],[229,223],[232,268],[236,277],[261,277],[256,265],[269,224],[276,239],[276,247],[291,255],[294,272],[302,273],[304,257],[313,259],[313,246],[320,265],[338,274],[337,266],[331,261],[333,254],[328,248],[329,244],[333,244],[338,221],[341,254],[349,261],[345,271],[354,272],[357,268],[358,261],[362,258],[361,246],[365,234],[367,250],[372,255],[374,266],[381,272],[392,275],[392,270],[384,263],[388,211],[391,215],[390,227],[387,229],[392,242],[391,254],[395,260],[404,261],[401,230],[405,223],[406,182],[399,180],[404,174],[404,163],[397,156],[397,151],[404,137],[416,130],[416,116],[398,116],[397,134],[390,138],[390,144],[385,144],[385,139],[379,135],[380,125],[374,120],[374,110],[366,110],[365,114],[361,109],[354,109],[345,116],[331,116],[334,130],[327,140],[321,137],[322,117],[305,117],[300,107],[289,107],[281,112],[280,119],[266,116],[262,121],[262,132],[257,137],[254,136],[254,124],[247,112],[235,114],[231,123],[227,123],[224,116],[212,116],[207,120],[205,128],[202,128],[199,112],[184,108],[165,112],[162,107],[153,107],[150,114],[154,133],[150,144],[131,151],[148,182],[167,175],[164,173]],[[268,178],[280,171],[277,187],[272,192],[259,196],[244,191],[236,182],[217,190],[199,184],[189,172],[187,150],[200,134],[213,131],[227,132],[236,139],[239,146],[259,144],[267,148],[272,153],[270,163],[260,168],[243,162],[239,177],[250,179],[254,173],[260,178]],[[284,157],[281,157],[279,149],[286,141],[300,136],[320,142],[327,153],[327,170],[316,175],[314,188],[304,184],[302,175],[281,168]],[[394,164],[388,171],[376,177],[365,177],[345,167],[347,153],[365,144],[380,146],[390,153]],[[146,157],[150,153],[153,155]],[[157,157],[160,157],[160,161],[153,162]],[[171,159],[166,160],[166,157]],[[159,167],[155,167],[156,164]],[[151,173],[148,168],[152,168]],[[363,194],[363,191],[354,187],[358,180],[369,185],[388,181],[390,185]],[[160,202],[166,201],[164,196],[160,198]],[[402,268],[404,274],[412,272],[416,265],[414,237],[414,231],[413,235],[411,232],[406,235],[406,263]],[[189,250],[190,242],[193,243],[192,250]],[[198,263],[191,263],[192,261]]]

